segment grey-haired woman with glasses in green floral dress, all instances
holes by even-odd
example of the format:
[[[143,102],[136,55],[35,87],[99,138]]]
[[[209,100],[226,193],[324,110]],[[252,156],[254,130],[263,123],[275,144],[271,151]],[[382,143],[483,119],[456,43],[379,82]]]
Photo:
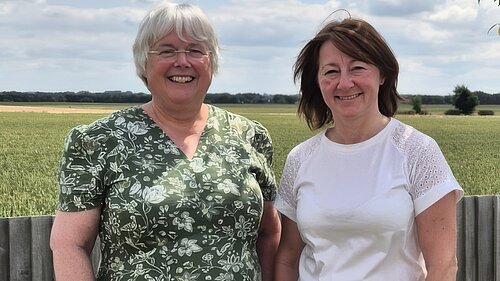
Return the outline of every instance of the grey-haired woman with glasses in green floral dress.
[[[203,103],[219,55],[208,18],[159,5],[133,53],[151,101],[66,139],[51,237],[57,280],[93,280],[97,235],[97,280],[272,280],[272,143],[261,124]]]

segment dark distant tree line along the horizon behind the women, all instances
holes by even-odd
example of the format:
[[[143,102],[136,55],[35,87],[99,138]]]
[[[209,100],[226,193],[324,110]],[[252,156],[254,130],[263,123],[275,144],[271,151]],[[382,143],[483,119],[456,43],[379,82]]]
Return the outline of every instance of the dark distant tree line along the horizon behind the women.
[[[500,93],[488,94],[482,91],[472,92],[478,97],[479,104],[500,104]],[[413,97],[419,96],[422,104],[453,104],[453,95],[403,95],[411,102]],[[241,103],[241,104],[295,104],[298,95],[259,94],[259,93],[209,93],[205,98],[206,103]],[[0,92],[0,102],[85,102],[85,103],[145,103],[151,100],[147,93],[134,93],[130,91],[104,91],[104,92]]]

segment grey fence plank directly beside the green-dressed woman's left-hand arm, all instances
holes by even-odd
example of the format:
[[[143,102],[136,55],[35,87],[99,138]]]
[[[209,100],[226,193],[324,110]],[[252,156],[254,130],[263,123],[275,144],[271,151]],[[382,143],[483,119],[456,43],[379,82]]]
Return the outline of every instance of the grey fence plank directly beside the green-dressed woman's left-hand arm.
[[[31,249],[33,280],[51,281],[54,279],[52,251],[50,250],[50,231],[52,216],[31,218]]]

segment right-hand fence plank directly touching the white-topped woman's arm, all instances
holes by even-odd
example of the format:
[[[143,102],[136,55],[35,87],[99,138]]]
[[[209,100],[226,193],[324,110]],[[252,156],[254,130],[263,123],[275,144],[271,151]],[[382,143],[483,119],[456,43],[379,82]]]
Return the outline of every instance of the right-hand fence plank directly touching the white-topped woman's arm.
[[[465,280],[483,281],[477,279],[477,236],[476,236],[476,196],[464,197],[464,240]]]

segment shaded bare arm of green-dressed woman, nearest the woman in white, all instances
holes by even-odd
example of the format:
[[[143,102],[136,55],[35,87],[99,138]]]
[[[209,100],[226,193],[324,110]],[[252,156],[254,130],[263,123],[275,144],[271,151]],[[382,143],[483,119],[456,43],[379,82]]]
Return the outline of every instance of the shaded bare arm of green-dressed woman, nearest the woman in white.
[[[273,202],[264,201],[264,212],[257,239],[257,253],[262,268],[262,281],[273,280],[274,258],[280,241],[281,225]]]

